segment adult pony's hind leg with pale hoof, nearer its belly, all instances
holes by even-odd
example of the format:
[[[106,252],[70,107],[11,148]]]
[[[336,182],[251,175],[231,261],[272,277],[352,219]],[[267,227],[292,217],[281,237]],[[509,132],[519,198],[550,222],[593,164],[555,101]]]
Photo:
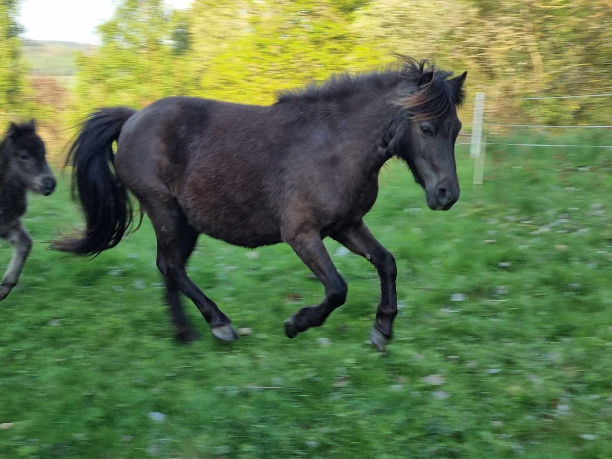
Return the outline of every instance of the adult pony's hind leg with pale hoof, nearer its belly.
[[[187,257],[184,254],[187,253],[188,245],[184,244],[182,239],[185,236],[193,237],[195,230],[188,225],[176,201],[172,198],[158,198],[154,203],[143,202],[143,206],[157,234],[157,266],[166,279],[166,286],[170,285],[169,301],[175,300],[173,291],[177,288],[193,301],[216,338],[224,341],[237,340],[238,334],[228,316],[219,310],[215,302],[207,297],[185,272]],[[191,249],[193,250],[193,247]],[[179,318],[182,321],[184,315],[176,305],[177,302],[170,304],[171,311],[175,320]],[[186,319],[182,323],[186,323]]]

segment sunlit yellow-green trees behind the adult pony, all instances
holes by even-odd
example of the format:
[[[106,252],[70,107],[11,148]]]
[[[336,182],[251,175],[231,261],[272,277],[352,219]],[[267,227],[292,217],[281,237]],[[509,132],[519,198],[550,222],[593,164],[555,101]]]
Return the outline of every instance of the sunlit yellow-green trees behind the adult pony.
[[[195,0],[181,12],[127,0],[78,63],[76,111],[171,94],[271,103],[398,52],[468,69],[469,90],[488,93],[496,118],[605,122],[606,100],[508,99],[610,91],[611,26],[607,0]]]

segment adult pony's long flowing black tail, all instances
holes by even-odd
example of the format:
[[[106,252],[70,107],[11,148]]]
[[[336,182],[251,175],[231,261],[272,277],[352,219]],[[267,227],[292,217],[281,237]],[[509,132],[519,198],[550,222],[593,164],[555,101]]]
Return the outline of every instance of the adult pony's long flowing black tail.
[[[62,252],[100,255],[119,244],[133,222],[133,208],[111,170],[113,142],[135,110],[102,108],[81,123],[66,165],[72,165],[72,196],[81,202],[87,227],[80,238],[65,238],[53,246]]]

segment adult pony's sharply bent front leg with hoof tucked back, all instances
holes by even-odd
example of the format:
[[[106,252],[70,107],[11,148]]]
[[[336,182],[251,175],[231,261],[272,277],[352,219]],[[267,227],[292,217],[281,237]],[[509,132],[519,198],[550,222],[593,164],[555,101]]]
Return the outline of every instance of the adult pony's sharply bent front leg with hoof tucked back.
[[[323,325],[327,316],[344,304],[347,286],[318,233],[294,234],[285,240],[325,286],[325,298],[321,304],[302,308],[285,321],[285,334],[293,338],[310,327]]]

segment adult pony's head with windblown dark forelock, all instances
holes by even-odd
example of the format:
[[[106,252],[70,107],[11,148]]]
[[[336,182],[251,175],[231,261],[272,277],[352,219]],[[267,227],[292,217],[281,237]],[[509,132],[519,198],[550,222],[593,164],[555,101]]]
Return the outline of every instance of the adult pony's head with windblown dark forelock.
[[[467,72],[427,67],[427,61],[403,58],[406,80],[400,84],[400,111],[392,127],[390,153],[405,160],[416,182],[425,189],[431,209],[447,211],[459,199],[455,140],[461,130],[457,106],[463,102]]]

